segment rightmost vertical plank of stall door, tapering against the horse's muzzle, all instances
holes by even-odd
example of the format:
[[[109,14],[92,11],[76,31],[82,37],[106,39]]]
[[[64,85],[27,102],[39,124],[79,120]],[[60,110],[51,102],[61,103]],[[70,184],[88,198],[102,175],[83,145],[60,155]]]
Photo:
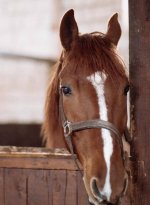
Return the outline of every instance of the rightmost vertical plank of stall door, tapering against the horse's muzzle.
[[[86,193],[81,173],[77,172],[77,190],[78,190],[78,204],[89,205],[88,195]]]

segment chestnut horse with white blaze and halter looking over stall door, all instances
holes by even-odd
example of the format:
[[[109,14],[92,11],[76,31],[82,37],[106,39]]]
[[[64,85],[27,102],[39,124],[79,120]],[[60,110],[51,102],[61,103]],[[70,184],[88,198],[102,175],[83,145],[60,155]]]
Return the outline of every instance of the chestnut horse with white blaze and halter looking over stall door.
[[[122,136],[129,79],[117,54],[120,36],[118,14],[105,34],[80,34],[74,10],[67,11],[60,24],[63,50],[45,103],[46,146],[76,154],[94,205],[119,204],[128,189]]]

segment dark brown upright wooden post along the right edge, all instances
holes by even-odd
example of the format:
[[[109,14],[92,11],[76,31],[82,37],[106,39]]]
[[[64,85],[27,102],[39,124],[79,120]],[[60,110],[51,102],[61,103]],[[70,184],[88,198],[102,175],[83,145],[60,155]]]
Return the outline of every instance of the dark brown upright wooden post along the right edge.
[[[134,204],[150,201],[150,1],[129,1]]]

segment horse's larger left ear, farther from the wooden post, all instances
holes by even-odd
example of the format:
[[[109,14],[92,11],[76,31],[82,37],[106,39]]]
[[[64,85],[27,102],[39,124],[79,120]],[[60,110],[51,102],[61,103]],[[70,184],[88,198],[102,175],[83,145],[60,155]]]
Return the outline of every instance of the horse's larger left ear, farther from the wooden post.
[[[74,10],[65,13],[60,24],[60,40],[66,50],[70,50],[72,42],[78,37],[78,26],[74,18]]]

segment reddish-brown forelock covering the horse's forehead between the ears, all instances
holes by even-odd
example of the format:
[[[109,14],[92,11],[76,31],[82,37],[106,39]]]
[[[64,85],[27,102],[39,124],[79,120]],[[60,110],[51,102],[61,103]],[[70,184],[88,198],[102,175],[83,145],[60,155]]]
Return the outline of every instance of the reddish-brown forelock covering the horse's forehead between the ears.
[[[100,71],[116,81],[118,75],[126,75],[125,65],[117,54],[116,46],[100,32],[79,36],[66,61],[66,64],[72,65],[71,72],[79,76],[88,71]]]

